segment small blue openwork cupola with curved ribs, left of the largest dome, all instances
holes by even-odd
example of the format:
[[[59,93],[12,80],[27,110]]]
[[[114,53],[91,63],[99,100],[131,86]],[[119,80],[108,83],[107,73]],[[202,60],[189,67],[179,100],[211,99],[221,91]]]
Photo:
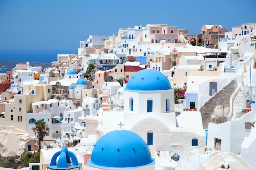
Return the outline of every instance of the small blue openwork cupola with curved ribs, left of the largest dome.
[[[56,159],[58,158],[58,162]],[[72,160],[72,161],[71,161]],[[71,164],[72,163],[72,164]],[[52,156],[51,163],[47,165],[50,169],[73,169],[81,167],[82,163],[78,163],[76,155],[63,147],[60,151]]]

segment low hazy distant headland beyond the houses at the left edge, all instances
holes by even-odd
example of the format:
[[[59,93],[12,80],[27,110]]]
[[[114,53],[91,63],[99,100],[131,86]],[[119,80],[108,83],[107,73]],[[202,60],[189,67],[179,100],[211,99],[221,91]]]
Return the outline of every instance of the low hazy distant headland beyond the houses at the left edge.
[[[11,62],[11,61],[1,61],[0,60],[0,70],[12,70],[14,67],[16,67],[16,64],[27,64],[27,63],[26,62]],[[42,66],[42,69],[52,66],[52,64],[49,62],[29,62],[29,65],[32,67]]]

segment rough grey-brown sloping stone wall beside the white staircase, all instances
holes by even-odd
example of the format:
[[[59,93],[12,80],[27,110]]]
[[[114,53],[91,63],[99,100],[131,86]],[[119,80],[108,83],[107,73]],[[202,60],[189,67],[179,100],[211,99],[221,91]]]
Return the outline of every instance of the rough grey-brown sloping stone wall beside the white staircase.
[[[229,115],[230,97],[237,88],[236,78],[224,86],[218,93],[213,95],[207,102],[200,106],[203,128],[208,128],[209,122],[222,123],[227,121]],[[223,116],[222,116],[223,115]]]

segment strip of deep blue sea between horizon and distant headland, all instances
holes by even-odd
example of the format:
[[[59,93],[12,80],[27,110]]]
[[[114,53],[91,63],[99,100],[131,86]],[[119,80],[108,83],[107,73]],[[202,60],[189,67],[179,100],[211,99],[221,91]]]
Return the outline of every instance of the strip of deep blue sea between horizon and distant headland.
[[[0,60],[14,62],[53,62],[57,61],[58,54],[77,54],[77,49],[0,49]]]

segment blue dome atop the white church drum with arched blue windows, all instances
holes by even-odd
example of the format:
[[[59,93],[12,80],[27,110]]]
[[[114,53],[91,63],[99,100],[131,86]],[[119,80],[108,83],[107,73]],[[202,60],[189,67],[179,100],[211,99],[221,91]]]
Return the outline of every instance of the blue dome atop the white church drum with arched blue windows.
[[[138,71],[129,79],[126,90],[134,91],[159,91],[170,90],[171,84],[167,77],[160,71],[145,69]]]

